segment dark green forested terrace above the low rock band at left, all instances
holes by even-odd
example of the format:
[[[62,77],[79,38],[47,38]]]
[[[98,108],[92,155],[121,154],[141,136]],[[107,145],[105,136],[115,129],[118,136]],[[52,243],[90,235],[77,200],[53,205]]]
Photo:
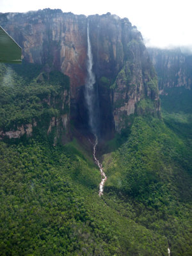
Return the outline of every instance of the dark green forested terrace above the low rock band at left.
[[[22,63],[0,65],[0,127],[4,131],[17,129],[61,113],[57,98],[69,89],[68,77],[60,72],[44,72],[39,65]],[[65,112],[68,111],[66,106]]]

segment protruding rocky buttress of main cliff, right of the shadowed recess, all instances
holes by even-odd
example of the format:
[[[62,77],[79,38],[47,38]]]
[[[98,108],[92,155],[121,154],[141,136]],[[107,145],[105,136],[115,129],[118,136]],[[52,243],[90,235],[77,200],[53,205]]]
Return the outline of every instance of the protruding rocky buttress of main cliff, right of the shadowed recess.
[[[152,115],[159,115],[160,111],[157,77],[145,46],[140,40],[132,39],[126,50],[124,67],[111,86],[116,131],[129,124],[131,114],[141,114],[137,104],[142,99],[148,98],[154,103],[150,111]]]

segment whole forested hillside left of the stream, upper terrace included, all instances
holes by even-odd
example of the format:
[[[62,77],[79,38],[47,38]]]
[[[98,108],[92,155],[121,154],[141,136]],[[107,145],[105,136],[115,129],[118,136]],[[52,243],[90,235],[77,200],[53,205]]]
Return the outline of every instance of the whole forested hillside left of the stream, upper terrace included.
[[[68,79],[41,71],[1,64],[1,254],[164,255],[166,237],[119,214],[118,198],[99,197],[92,152],[76,141],[59,145]],[[134,216],[131,202],[122,207]]]

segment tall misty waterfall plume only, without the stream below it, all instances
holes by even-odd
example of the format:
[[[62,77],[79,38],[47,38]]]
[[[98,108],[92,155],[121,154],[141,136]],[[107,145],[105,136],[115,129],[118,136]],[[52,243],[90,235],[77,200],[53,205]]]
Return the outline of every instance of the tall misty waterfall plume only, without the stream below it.
[[[93,134],[98,134],[99,129],[99,99],[95,86],[95,74],[93,73],[92,45],[90,43],[90,28],[87,25],[87,77],[85,83],[85,99],[88,108],[88,124]]]

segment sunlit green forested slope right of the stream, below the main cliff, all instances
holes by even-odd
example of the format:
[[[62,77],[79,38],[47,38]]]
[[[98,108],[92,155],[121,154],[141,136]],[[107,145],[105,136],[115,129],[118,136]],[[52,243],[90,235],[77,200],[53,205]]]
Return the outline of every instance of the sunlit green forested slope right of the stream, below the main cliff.
[[[172,255],[191,252],[191,149],[160,120],[135,118],[131,135],[107,154],[106,190],[133,204],[137,223],[166,236]],[[127,215],[128,214],[128,215]]]

